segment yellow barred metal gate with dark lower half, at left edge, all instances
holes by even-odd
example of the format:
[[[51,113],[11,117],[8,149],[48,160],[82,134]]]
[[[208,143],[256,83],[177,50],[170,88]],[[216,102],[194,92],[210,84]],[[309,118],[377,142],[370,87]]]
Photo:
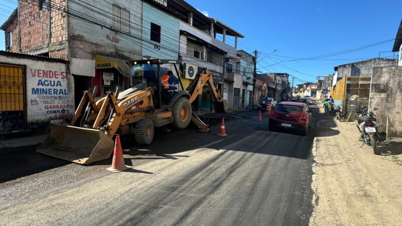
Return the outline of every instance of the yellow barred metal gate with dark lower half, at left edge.
[[[0,64],[0,133],[23,131],[24,67]]]

